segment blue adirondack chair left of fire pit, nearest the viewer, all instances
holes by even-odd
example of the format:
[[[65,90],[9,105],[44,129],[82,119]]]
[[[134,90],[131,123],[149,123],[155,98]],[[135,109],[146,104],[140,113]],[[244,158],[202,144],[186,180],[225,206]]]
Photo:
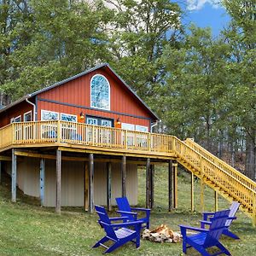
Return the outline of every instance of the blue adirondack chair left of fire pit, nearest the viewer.
[[[108,218],[108,213],[104,207],[95,206],[96,212],[99,215],[99,224],[104,228],[106,236],[104,236],[100,241],[97,241],[93,247],[105,247],[107,250],[104,253],[111,253],[116,248],[124,245],[128,241],[133,241],[136,243],[136,247],[140,247],[140,230],[142,222],[126,222],[112,224],[113,220],[118,220],[122,218]],[[134,230],[130,230],[127,227],[133,226]],[[107,241],[113,241],[113,244],[108,247],[104,243]]]

